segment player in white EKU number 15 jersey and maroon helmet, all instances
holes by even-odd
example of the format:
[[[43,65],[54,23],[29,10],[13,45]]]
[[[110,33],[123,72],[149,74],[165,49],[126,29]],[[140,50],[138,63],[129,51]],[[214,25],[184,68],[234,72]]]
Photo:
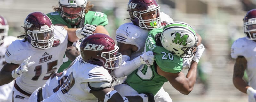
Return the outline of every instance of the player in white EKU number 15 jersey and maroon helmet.
[[[6,64],[0,72],[0,85],[16,79],[14,102],[27,102],[29,96],[57,72],[62,64],[70,35],[62,26],[53,26],[41,12],[30,13],[24,20],[24,39],[15,40],[5,52]],[[29,61],[30,60],[30,61]]]

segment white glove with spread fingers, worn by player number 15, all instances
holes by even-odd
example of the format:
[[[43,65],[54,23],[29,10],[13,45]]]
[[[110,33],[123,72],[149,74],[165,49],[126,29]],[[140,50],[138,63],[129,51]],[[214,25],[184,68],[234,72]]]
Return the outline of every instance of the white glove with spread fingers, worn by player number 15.
[[[15,79],[17,77],[20,77],[22,75],[23,72],[27,72],[28,71],[28,67],[30,67],[32,64],[34,64],[35,62],[29,62],[31,56],[29,56],[27,59],[25,59],[18,68],[14,69],[12,71],[12,77]]]

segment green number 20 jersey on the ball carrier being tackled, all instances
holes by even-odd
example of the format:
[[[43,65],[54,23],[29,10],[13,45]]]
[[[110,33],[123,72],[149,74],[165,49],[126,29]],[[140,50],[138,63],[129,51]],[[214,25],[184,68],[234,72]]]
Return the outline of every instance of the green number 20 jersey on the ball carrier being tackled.
[[[145,42],[144,52],[152,51],[154,53],[154,64],[149,67],[143,64],[127,76],[126,82],[138,93],[148,92],[156,95],[164,82],[168,81],[165,77],[157,74],[157,65],[163,71],[170,73],[178,73],[182,69],[183,59],[164,49],[160,39],[157,39],[156,36],[162,31],[162,28],[151,30]]]

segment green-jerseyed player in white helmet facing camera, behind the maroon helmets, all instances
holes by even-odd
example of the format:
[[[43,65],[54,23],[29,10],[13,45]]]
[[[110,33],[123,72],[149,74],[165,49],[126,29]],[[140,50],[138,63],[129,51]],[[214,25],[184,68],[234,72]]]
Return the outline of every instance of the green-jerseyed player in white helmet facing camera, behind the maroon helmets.
[[[55,12],[46,15],[54,25],[64,26],[71,33],[76,31],[73,35],[78,35],[80,39],[92,34],[92,32],[109,35],[104,28],[108,24],[107,15],[98,11],[90,11],[92,7],[93,5],[87,0],[59,0],[59,6],[53,8]],[[81,36],[81,32],[86,36]],[[71,45],[72,43],[68,43],[70,47],[68,47],[67,53],[76,51],[76,48]],[[71,61],[65,55],[58,72],[62,72],[70,63]]]

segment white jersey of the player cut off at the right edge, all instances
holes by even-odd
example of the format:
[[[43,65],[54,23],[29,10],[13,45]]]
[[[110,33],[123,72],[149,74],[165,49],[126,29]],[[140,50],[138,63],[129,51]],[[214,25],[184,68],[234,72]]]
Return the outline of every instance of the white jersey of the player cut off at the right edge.
[[[247,60],[245,69],[249,81],[249,86],[256,89],[256,42],[248,40],[245,37],[234,41],[231,47],[231,57],[236,59],[238,56],[244,56]]]

